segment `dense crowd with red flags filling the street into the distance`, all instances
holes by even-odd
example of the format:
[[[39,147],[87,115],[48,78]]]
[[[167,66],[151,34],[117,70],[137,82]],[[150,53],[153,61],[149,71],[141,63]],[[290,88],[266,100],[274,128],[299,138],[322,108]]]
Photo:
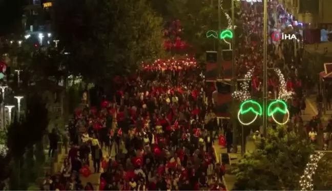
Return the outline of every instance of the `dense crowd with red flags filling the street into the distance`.
[[[252,88],[260,91],[263,5],[241,4],[244,34],[236,51],[237,71],[243,76],[248,68],[255,68]],[[289,22],[280,16],[288,15],[282,6],[277,12],[269,6],[269,12],[279,15],[279,21],[270,16],[269,31],[278,22]],[[268,65],[282,69],[287,88],[296,92],[294,107],[303,106],[302,91],[297,89],[303,77],[298,72],[301,52],[294,57],[292,45],[284,43],[279,54],[279,44],[275,44],[269,45]],[[231,135],[227,136],[230,140],[232,129],[227,120],[218,122],[213,102],[206,101],[211,96],[206,95],[195,59],[157,60],[143,68],[131,78],[115,78],[112,91],[98,89],[90,107],[75,111],[69,124],[68,158],[59,174],[44,181],[44,191],[94,190],[79,178],[89,176],[90,165],[94,173],[101,173],[100,191],[225,190],[225,165],[217,162],[213,145],[219,130]],[[275,91],[280,85],[278,76],[269,75],[269,89]],[[298,116],[302,106],[292,110],[292,115]],[[227,147],[232,144],[226,142]]]

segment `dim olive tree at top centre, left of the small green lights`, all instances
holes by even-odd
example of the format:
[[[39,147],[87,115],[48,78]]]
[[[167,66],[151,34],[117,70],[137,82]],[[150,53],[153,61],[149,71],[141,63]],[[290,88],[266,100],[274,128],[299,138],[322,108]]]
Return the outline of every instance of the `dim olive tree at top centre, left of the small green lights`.
[[[219,30],[217,1],[212,4],[211,1],[200,0],[169,0],[164,4],[158,0],[150,1],[164,20],[169,22],[180,20],[183,29],[180,37],[192,45],[197,53],[210,50],[213,44],[217,43],[215,39],[206,40],[205,36],[209,30]],[[221,14],[220,19],[221,28],[226,29],[228,23],[224,13]]]

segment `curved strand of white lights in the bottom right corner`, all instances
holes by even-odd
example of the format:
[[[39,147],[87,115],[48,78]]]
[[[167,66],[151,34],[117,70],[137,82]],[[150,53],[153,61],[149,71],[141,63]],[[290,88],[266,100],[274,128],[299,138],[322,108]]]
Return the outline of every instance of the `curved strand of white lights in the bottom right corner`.
[[[310,161],[306,164],[304,173],[300,179],[301,191],[314,191],[313,175],[315,175],[319,160],[325,153],[315,153],[310,155]]]

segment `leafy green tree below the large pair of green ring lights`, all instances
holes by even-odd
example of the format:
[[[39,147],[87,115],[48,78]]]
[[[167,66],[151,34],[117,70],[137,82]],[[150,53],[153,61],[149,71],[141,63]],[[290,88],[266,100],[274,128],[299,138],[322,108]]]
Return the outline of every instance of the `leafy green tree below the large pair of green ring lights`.
[[[235,190],[296,190],[313,152],[307,140],[284,126],[270,129],[257,150],[239,162]]]

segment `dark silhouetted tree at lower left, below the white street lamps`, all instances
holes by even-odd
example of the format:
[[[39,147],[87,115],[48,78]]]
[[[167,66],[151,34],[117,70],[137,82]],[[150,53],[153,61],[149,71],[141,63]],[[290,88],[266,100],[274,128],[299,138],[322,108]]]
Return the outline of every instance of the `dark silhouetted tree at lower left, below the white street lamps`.
[[[20,160],[27,148],[39,142],[48,126],[48,110],[40,96],[27,98],[27,113],[24,121],[14,122],[8,127],[8,153],[0,156],[0,182],[11,175],[11,161]]]

